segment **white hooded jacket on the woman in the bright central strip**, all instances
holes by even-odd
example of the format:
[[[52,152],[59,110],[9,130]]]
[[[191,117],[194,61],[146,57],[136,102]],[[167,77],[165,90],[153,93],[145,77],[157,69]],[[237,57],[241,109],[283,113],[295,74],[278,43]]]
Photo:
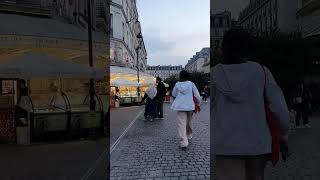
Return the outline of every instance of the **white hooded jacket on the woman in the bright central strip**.
[[[171,109],[175,111],[194,111],[193,96],[196,97],[199,105],[201,103],[199,91],[191,81],[177,82],[172,90],[172,96],[175,97],[175,100],[171,105]]]

